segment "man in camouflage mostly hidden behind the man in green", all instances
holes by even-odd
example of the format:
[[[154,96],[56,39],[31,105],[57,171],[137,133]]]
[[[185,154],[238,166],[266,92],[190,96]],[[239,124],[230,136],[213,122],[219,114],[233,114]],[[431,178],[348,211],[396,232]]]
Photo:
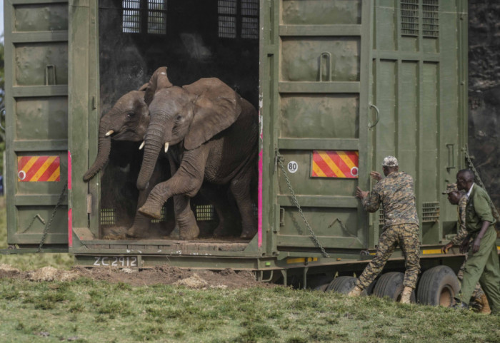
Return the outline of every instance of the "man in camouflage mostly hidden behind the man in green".
[[[441,247],[441,252],[446,254],[451,247],[453,247],[454,245],[460,245],[461,242],[463,242],[467,237],[467,230],[465,228],[465,208],[467,205],[467,195],[464,191],[460,191],[458,188],[456,188],[456,183],[449,183],[448,185],[446,185],[446,190],[443,192],[443,194],[448,195],[448,201],[449,203],[451,203],[451,205],[459,206],[457,208],[459,217],[459,231],[448,244]],[[467,255],[465,255],[464,263],[462,263],[462,265],[460,266],[460,270],[456,275],[460,281],[464,278],[465,262],[467,262]],[[479,282],[476,284],[476,288],[474,289],[472,297],[474,298],[474,304],[476,304],[476,307],[479,307],[479,310],[481,312],[490,311],[488,300],[486,300],[486,295],[484,295],[483,290],[481,290],[481,285],[479,285]]]

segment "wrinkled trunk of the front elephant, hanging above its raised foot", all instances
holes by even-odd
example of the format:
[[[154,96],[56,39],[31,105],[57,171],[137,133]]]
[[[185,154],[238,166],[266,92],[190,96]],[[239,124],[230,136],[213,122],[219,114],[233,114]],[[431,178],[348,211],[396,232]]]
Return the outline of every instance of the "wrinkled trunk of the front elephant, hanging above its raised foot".
[[[149,124],[146,138],[144,139],[144,156],[142,158],[141,171],[137,178],[137,188],[139,190],[146,189],[151,175],[153,175],[161,148],[164,147],[164,143],[170,140],[170,134],[165,133],[170,133],[171,128],[166,128],[165,123],[165,120],[156,118],[156,120],[151,119],[151,123]]]

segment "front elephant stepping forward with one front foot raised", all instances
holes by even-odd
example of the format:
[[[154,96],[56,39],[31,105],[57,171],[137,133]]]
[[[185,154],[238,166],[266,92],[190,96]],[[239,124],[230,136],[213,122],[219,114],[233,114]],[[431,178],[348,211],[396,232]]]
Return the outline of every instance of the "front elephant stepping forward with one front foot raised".
[[[159,76],[160,78],[163,76]],[[178,165],[169,180],[156,185],[139,212],[159,218],[163,204],[174,197],[181,239],[199,235],[189,198],[206,180],[229,184],[241,215],[241,238],[256,234],[250,183],[256,172],[258,115],[218,78],[201,78],[190,85],[156,91],[149,106],[151,120],[144,140],[144,158],[137,188],[146,189],[162,148]]]

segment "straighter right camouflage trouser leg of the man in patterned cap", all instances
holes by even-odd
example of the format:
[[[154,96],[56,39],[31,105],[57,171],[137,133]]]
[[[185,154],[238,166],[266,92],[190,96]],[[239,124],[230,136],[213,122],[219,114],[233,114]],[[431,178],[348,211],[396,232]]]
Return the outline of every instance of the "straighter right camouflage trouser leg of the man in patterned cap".
[[[399,226],[399,246],[404,254],[404,287],[415,289],[420,272],[420,240],[419,226],[405,224]]]

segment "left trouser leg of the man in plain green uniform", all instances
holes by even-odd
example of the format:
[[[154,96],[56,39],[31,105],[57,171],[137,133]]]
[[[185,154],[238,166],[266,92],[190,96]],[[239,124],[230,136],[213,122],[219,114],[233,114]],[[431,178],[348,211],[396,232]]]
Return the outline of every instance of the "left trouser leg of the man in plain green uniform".
[[[469,251],[469,257],[464,268],[464,278],[461,280],[461,301],[469,304],[472,293],[476,288],[477,282],[483,274],[486,262],[489,261],[489,255],[491,254],[492,246],[495,245],[496,232],[494,227],[490,227],[484,237],[481,239],[481,245],[479,245],[479,251],[472,253]],[[498,266],[498,255],[497,255],[497,266]],[[491,262],[493,263],[493,262]],[[498,281],[497,281],[498,282]],[[483,288],[484,290],[484,288]],[[484,290],[486,293],[486,290]],[[488,294],[486,293],[486,297]]]

